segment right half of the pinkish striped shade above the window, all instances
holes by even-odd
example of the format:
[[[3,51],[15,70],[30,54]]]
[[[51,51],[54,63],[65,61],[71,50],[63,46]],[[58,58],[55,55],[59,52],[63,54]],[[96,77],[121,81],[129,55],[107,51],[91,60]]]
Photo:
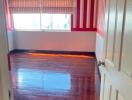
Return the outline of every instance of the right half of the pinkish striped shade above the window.
[[[74,0],[42,0],[42,12],[72,13]]]

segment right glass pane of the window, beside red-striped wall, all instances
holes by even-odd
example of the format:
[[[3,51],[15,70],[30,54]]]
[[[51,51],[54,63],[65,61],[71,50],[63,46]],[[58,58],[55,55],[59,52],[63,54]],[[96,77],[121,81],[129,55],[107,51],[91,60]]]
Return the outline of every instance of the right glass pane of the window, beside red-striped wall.
[[[46,30],[70,30],[70,14],[41,14],[41,27]]]

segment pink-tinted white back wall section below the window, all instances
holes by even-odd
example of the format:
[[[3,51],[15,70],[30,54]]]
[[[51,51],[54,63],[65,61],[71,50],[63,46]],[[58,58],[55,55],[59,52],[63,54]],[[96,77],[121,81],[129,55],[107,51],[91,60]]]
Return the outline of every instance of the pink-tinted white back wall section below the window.
[[[95,52],[96,32],[14,32],[15,49]]]

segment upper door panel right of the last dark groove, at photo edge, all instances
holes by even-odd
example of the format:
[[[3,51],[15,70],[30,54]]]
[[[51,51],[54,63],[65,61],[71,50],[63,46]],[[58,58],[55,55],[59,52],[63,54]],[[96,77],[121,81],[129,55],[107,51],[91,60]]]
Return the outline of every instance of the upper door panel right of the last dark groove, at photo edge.
[[[132,0],[127,0],[121,71],[132,77]]]

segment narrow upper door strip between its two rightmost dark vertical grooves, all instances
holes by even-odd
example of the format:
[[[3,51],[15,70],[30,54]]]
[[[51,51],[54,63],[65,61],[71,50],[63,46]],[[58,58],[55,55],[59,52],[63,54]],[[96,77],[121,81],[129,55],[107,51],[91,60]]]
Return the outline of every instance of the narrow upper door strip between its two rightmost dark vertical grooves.
[[[121,53],[121,36],[123,28],[123,18],[124,18],[124,6],[125,0],[117,1],[117,14],[116,14],[116,30],[115,30],[115,47],[114,47],[114,65],[116,69],[119,69],[120,63],[120,53]]]

